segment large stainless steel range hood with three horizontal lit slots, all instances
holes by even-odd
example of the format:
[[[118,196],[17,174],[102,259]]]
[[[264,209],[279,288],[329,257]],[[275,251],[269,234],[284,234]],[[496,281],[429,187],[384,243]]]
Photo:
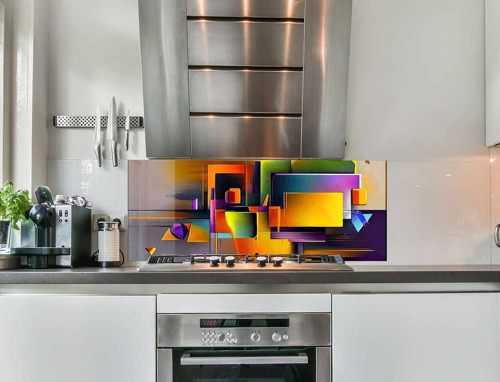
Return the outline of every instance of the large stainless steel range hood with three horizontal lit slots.
[[[148,158],[343,158],[352,0],[138,5]]]

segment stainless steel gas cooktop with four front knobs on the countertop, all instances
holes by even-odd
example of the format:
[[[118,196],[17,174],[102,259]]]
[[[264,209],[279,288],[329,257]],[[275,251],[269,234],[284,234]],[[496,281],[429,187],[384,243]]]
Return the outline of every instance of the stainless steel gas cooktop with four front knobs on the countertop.
[[[162,255],[137,271],[352,271],[340,255]]]

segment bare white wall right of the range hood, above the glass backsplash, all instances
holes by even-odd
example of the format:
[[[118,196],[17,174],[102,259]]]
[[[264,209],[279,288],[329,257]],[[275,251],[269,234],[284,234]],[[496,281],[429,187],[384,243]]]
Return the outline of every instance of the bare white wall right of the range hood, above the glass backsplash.
[[[488,161],[483,1],[353,1],[345,140],[346,159]]]

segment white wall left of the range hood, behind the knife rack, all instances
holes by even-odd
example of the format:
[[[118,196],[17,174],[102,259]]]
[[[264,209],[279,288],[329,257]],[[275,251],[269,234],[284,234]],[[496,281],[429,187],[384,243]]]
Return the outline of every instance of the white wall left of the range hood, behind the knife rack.
[[[117,115],[144,115],[140,74],[137,0],[49,0],[48,115],[107,115],[116,99]],[[92,159],[93,130],[54,128],[48,121],[49,159]],[[118,158],[145,159],[143,129],[130,130],[130,147]],[[104,159],[111,159],[103,142]]]

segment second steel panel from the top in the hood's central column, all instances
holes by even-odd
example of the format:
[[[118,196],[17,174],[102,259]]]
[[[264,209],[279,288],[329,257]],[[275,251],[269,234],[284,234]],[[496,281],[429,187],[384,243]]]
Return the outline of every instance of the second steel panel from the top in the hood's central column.
[[[302,22],[187,21],[189,65],[302,67]]]

